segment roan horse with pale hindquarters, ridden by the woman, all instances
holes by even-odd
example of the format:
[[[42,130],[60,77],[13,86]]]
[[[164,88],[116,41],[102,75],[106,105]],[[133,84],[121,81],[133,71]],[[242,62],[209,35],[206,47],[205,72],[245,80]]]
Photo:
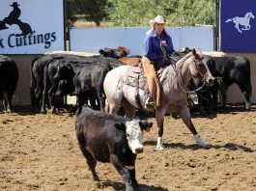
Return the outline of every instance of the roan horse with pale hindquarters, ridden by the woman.
[[[188,53],[175,67],[170,65],[162,73],[165,76],[160,78],[161,82],[161,106],[156,107],[157,143],[156,149],[163,149],[163,122],[166,111],[176,112],[181,116],[189,131],[193,134],[197,144],[203,148],[207,147],[206,142],[191,122],[190,112],[187,107],[186,87],[191,77],[197,77],[208,84],[211,80],[209,69],[202,62],[203,55],[200,49]],[[131,66],[120,66],[110,70],[104,79],[103,88],[106,95],[105,111],[110,114],[117,114],[119,106],[122,105],[126,111],[126,117],[133,118],[136,108],[150,111],[147,107],[147,90],[138,89],[127,85],[126,78]],[[138,93],[138,95],[136,95]],[[139,99],[136,99],[139,97]]]

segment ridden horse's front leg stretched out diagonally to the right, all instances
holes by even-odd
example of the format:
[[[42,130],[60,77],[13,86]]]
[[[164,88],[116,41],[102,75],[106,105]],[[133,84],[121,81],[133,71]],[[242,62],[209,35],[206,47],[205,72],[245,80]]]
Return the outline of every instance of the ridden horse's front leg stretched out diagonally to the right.
[[[197,133],[194,124],[191,121],[190,112],[188,108],[186,107],[182,109],[180,115],[189,131],[194,135],[194,139],[196,140],[197,144],[203,148],[206,148],[206,142],[201,138],[200,134]]]

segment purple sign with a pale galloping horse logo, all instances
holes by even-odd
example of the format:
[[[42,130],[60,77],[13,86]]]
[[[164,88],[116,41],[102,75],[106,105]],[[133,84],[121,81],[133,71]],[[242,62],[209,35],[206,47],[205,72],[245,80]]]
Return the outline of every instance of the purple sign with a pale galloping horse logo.
[[[256,52],[256,1],[221,0],[220,49]]]

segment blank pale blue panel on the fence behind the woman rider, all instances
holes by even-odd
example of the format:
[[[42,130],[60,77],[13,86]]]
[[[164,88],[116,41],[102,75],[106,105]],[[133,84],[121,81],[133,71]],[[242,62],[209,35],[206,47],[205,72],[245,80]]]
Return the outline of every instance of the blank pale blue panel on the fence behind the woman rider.
[[[144,39],[149,27],[71,28],[72,51],[99,53],[105,47],[125,46],[132,55],[143,55]],[[175,50],[183,47],[213,51],[213,26],[166,27]]]

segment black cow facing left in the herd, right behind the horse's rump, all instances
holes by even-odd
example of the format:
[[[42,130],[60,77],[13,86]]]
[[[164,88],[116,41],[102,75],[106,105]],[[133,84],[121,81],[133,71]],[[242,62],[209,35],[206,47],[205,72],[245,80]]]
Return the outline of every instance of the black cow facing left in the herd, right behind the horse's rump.
[[[94,109],[103,111],[105,106],[105,95],[102,85],[106,73],[111,69],[110,65],[101,63],[87,64],[83,66],[66,63],[57,68],[54,79],[73,81],[77,106],[76,115],[80,113],[82,105],[87,104],[88,98]],[[58,91],[63,92],[62,90]],[[96,100],[98,105],[100,105],[100,108],[97,106]]]

